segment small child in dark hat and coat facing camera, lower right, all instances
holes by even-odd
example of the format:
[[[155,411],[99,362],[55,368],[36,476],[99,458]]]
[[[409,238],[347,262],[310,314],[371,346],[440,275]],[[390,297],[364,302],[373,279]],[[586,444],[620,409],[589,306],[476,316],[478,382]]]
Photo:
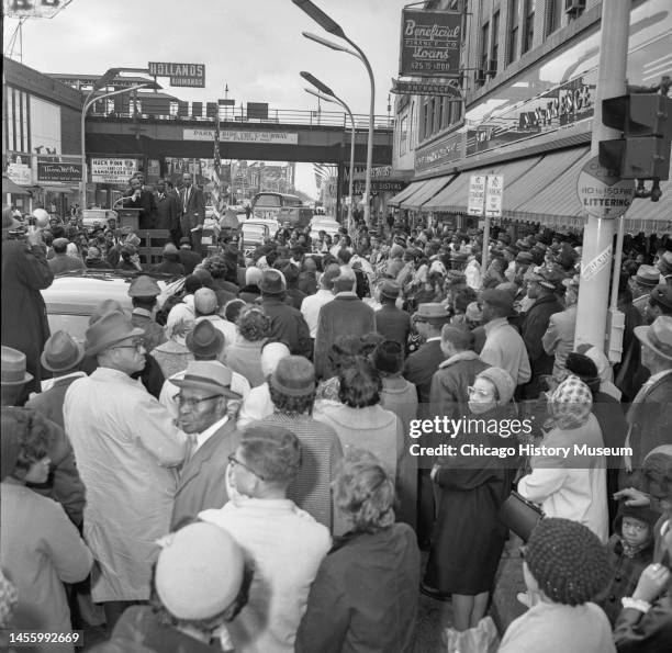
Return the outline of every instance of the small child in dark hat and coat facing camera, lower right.
[[[614,534],[607,543],[612,576],[595,603],[602,607],[612,626],[620,613],[620,599],[630,596],[645,567],[653,559],[653,527],[660,514],[621,503],[614,520]]]

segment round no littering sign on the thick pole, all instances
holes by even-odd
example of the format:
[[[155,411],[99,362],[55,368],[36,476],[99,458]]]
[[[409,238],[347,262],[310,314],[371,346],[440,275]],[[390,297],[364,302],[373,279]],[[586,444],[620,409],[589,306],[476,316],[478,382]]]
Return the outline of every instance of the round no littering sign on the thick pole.
[[[576,195],[589,215],[620,217],[632,203],[635,180],[620,179],[613,170],[603,168],[597,157],[593,157],[581,168]]]

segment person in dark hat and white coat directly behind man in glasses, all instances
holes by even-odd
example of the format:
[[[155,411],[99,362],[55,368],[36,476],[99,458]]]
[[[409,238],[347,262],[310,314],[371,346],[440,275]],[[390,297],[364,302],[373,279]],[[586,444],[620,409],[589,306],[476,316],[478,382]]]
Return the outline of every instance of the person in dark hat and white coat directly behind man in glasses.
[[[224,367],[224,363],[221,361],[225,338],[222,335],[222,331],[215,328],[212,322],[208,319],[202,319],[201,322],[198,322],[193,330],[187,334],[187,338],[184,339],[184,341],[187,345],[187,349],[189,349],[189,351],[193,353],[194,360],[217,361],[222,367]],[[161,389],[161,394],[159,396],[160,404],[167,408],[173,419],[177,419],[179,417],[179,389],[173,383],[173,381],[183,378],[184,370],[182,370],[181,372],[177,372],[172,376],[166,379],[164,387]],[[242,398],[246,398],[250,392],[249,381],[245,379],[243,374],[238,374],[238,372],[234,372],[233,370],[231,387],[233,392],[239,394]],[[232,418],[236,417],[240,404],[240,399],[229,397],[228,415]]]

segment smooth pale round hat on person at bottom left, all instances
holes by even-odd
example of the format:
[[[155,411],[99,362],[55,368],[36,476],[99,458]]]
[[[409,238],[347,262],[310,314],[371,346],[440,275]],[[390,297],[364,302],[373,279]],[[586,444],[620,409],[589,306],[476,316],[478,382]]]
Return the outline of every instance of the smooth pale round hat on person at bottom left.
[[[210,619],[226,610],[243,584],[243,551],[214,523],[190,523],[161,541],[155,586],[177,619]]]

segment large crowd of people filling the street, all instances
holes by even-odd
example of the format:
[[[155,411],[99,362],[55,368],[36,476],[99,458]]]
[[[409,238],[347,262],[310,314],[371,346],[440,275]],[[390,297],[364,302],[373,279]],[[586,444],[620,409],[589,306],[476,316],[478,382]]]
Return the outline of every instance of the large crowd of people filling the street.
[[[203,259],[190,228],[156,269],[114,225],[19,232],[3,210],[2,628],[411,652],[421,593],[443,627],[482,624],[516,491],[544,518],[500,651],[672,650],[669,240],[614,272],[612,365],[574,346],[580,241],[544,228],[493,229],[488,266],[478,229],[282,228]],[[99,297],[82,342],[51,333],[40,291],[105,267],[128,307]],[[418,432],[439,418],[495,428]]]

